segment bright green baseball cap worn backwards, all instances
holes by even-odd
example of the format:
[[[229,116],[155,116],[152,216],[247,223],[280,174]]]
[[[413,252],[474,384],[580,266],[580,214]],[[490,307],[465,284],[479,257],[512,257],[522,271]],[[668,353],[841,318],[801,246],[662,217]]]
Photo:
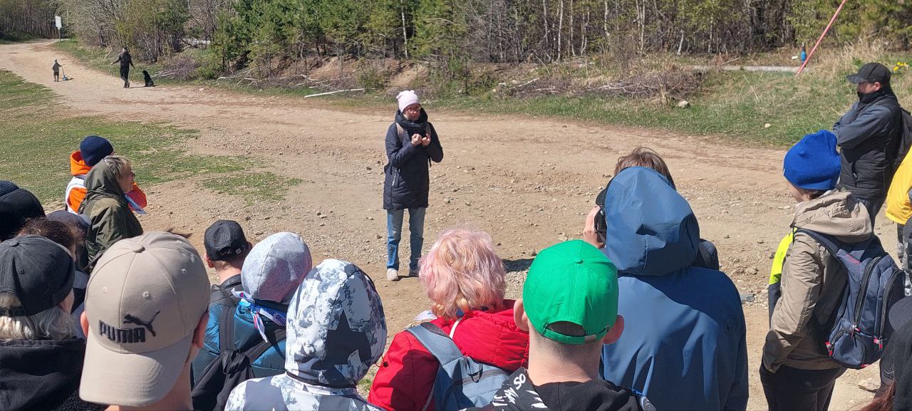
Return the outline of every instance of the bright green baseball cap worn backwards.
[[[617,319],[617,267],[582,240],[564,241],[540,252],[523,285],[529,322],[558,343],[585,344],[605,336]],[[584,335],[565,335],[555,323],[583,327]]]

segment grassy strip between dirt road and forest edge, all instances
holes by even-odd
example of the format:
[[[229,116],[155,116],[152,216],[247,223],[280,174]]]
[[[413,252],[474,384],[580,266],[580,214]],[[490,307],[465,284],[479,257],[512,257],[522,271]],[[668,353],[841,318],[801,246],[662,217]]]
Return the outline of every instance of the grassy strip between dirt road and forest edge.
[[[116,69],[109,66],[108,59],[104,58],[106,53],[102,50],[80,46],[76,41],[57,43],[57,47],[89,67],[117,76]],[[778,53],[745,60],[751,63],[793,64],[782,63],[783,60],[788,61],[787,58]],[[451,96],[426,101],[425,106],[470,113],[528,115],[658,128],[687,135],[714,136],[734,144],[786,146],[801,139],[804,134],[833,126],[834,121],[855,101],[855,88],[845,81],[845,76],[855,72],[857,67],[867,61],[880,61],[890,66],[897,61],[912,62],[912,55],[896,54],[869,45],[823,50],[814,58],[812,70],[801,77],[791,73],[711,71],[707,73],[700,93],[688,98],[689,108],[633,98],[554,96],[521,99],[492,94]],[[661,57],[657,60],[661,60],[658,66],[663,67],[694,63],[690,57]],[[565,71],[565,76],[575,74],[569,68],[561,69]],[[910,70],[905,68],[903,71]],[[912,107],[912,73],[903,71],[894,77],[893,87],[904,107]],[[180,83],[169,79],[162,79],[161,82]],[[259,89],[203,80],[194,83],[257,94],[302,96],[315,92],[300,88]],[[393,99],[383,93],[354,97],[326,96],[321,101],[342,108],[394,106]]]

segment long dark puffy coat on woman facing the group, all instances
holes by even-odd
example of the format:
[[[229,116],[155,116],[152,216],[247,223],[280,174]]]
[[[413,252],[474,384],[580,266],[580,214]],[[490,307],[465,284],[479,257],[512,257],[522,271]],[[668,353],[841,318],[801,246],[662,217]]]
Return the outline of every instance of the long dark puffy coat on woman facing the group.
[[[403,132],[399,133],[399,124]],[[428,147],[412,146],[411,134],[430,132]],[[409,122],[396,113],[396,121],[387,130],[387,158],[384,167],[386,180],[383,182],[383,209],[403,210],[428,207],[430,190],[430,161],[443,159],[443,147],[437,131],[428,121],[428,115],[421,109],[418,121]]]

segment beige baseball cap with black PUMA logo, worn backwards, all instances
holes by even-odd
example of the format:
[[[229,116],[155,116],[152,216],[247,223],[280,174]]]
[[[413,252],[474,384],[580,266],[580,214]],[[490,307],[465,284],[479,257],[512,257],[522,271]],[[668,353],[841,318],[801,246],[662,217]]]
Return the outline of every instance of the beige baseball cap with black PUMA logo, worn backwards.
[[[209,303],[200,254],[181,236],[151,231],[101,256],[86,290],[86,359],[79,396],[149,406],[177,382]]]

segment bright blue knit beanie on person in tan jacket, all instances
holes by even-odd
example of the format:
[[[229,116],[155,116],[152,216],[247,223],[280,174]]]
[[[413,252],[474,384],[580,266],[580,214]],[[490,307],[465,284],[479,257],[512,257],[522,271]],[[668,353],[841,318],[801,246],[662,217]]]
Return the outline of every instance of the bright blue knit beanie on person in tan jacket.
[[[804,136],[782,161],[785,180],[804,190],[833,190],[839,170],[836,136],[827,130]]]

